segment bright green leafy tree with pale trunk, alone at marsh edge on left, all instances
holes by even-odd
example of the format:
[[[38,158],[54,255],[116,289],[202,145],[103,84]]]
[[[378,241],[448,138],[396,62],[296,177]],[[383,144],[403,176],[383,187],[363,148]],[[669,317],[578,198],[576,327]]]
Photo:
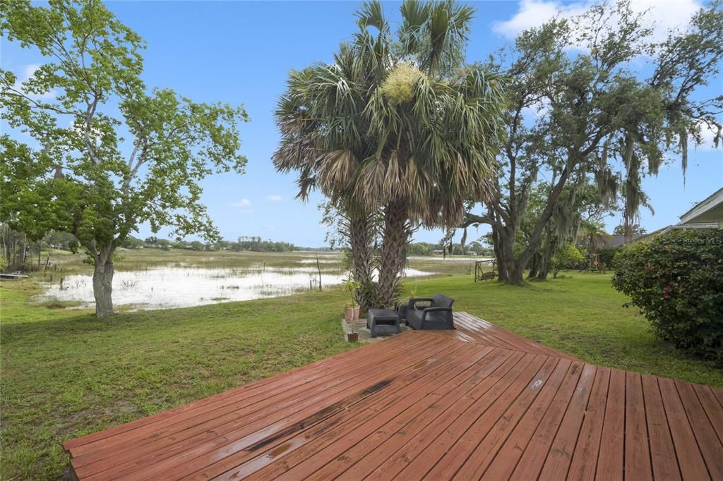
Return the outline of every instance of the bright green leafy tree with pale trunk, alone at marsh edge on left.
[[[113,254],[143,223],[215,238],[202,178],[241,172],[242,107],[195,103],[140,79],[141,38],[99,1],[0,4],[6,41],[46,58],[18,84],[1,71],[0,218],[38,238],[72,233],[94,264],[98,317],[113,313]],[[33,140],[22,143],[14,132]]]

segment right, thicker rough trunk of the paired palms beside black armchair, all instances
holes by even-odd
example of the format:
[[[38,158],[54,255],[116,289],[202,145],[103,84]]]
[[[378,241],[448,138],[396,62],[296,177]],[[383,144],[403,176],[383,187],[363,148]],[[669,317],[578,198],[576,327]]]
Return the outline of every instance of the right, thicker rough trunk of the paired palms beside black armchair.
[[[384,211],[384,239],[377,285],[377,300],[382,307],[392,307],[397,298],[409,233],[406,202],[389,202]]]

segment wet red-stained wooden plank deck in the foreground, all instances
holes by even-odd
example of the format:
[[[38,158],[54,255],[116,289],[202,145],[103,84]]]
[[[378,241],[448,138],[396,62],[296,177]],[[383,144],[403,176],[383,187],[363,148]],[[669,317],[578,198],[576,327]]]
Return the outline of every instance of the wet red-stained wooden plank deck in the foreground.
[[[81,480],[723,479],[723,389],[456,319],[64,446]]]

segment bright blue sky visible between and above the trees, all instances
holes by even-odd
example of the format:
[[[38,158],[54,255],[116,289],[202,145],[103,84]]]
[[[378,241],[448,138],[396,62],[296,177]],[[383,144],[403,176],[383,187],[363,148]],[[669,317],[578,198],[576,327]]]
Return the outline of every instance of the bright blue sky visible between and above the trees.
[[[270,157],[278,142],[273,110],[289,69],[330,61],[341,40],[354,31],[357,2],[204,2],[111,1],[119,19],[147,42],[145,74],[149,87],[170,87],[195,101],[243,103],[252,121],[241,126],[241,152],[248,158],[244,175],[213,175],[202,186],[202,202],[224,238],[260,235],[297,246],[322,246],[319,195],[307,203],[294,199],[294,175],[275,172]],[[542,22],[555,11],[574,14],[581,4],[548,1],[486,1],[477,8],[467,56],[483,60],[515,32]],[[641,8],[653,3],[641,3]],[[661,6],[662,5],[662,6]],[[665,2],[653,17],[662,26],[684,21],[695,11],[693,0]],[[391,20],[398,4],[385,3]],[[683,20],[681,20],[683,19]],[[672,23],[671,23],[672,22]],[[22,73],[42,59],[16,45],[2,45],[4,69]],[[709,92],[720,95],[717,82]],[[706,147],[690,153],[686,186],[680,164],[672,162],[643,186],[656,211],[641,212],[649,231],[677,222],[695,202],[723,185],[723,150]],[[610,219],[609,229],[619,223]],[[482,235],[479,228],[470,238]],[[142,228],[139,235],[150,235]],[[163,231],[161,231],[163,235]],[[439,241],[438,230],[419,231],[418,241]]]

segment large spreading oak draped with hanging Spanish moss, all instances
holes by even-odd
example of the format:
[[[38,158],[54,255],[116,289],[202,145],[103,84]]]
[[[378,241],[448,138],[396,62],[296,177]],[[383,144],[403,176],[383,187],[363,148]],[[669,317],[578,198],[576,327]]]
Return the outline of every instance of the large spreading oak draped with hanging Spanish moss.
[[[565,186],[581,176],[594,179],[604,202],[622,199],[624,224],[630,226],[647,204],[641,178],[656,175],[665,153],[677,155],[685,173],[689,137],[701,143],[701,129],[711,128],[718,144],[723,97],[701,100],[696,91],[719,73],[720,2],[701,9],[688,30],[672,31],[663,42],[643,26],[643,16],[625,0],[592,6],[576,19],[522,32],[513,48],[489,63],[490,69],[507,69],[508,136],[498,157],[496,195],[462,225],[492,227],[501,281],[522,282],[564,202]],[[529,240],[515,250],[540,178],[552,179],[551,188]]]

